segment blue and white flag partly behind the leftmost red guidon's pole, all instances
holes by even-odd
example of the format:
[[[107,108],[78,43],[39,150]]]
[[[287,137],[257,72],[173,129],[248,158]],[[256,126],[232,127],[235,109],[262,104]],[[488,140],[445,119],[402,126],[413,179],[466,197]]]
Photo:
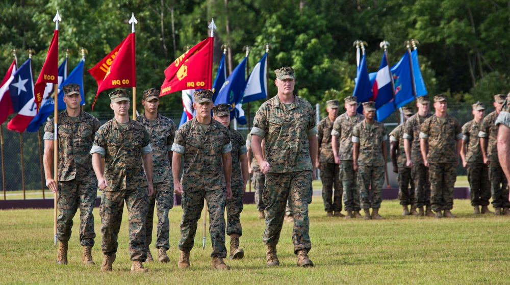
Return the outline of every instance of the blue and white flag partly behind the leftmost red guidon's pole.
[[[62,82],[65,81],[67,76],[67,58],[62,62],[59,66],[59,88],[62,86]],[[46,83],[46,89],[44,90],[44,98],[41,102],[41,108],[39,109],[39,113],[32,119],[29,126],[27,127],[27,132],[37,132],[39,128],[46,122],[49,115],[53,114],[55,111],[55,102],[51,97],[53,94],[53,83]],[[62,91],[59,89],[58,94],[60,98],[60,93]],[[62,101],[62,102],[60,102]],[[59,110],[65,109],[64,100],[59,100]]]

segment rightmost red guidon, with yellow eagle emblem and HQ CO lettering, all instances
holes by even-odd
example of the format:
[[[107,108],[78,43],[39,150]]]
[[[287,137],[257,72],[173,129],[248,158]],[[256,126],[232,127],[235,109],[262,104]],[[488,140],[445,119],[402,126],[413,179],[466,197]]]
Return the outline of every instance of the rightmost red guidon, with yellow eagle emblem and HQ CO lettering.
[[[214,37],[199,42],[165,69],[160,97],[187,89],[211,89]]]

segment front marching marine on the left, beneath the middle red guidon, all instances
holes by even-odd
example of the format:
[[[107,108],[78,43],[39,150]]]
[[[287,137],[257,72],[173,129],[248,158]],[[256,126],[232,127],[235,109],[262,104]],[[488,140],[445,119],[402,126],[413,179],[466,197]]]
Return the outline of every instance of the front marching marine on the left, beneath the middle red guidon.
[[[131,271],[147,272],[142,262],[147,258],[147,196],[152,195],[153,191],[150,136],[141,123],[129,118],[129,91],[116,90],[110,93],[110,99],[115,117],[98,129],[90,150],[99,189],[103,192],[99,215],[103,235],[101,249],[105,256],[101,270],[112,270],[125,202],[129,212],[128,248],[133,261]],[[104,165],[101,163],[102,158]]]

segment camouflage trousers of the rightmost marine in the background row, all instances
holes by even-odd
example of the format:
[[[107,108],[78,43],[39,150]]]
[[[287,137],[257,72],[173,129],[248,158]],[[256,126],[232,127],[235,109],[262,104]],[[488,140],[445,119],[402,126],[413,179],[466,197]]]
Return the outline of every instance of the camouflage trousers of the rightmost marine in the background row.
[[[494,208],[510,208],[508,202],[508,181],[498,161],[489,164],[491,178],[492,206]]]

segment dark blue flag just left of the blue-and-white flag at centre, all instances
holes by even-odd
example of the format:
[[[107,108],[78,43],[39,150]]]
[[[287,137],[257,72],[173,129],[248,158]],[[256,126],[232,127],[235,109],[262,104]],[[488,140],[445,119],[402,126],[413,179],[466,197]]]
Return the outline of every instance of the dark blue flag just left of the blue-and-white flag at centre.
[[[239,63],[239,65],[236,67],[236,69],[234,69],[234,71],[228,75],[225,83],[218,92],[216,100],[214,101],[214,105],[221,103],[227,103],[230,105],[231,120],[235,117],[240,124],[246,124],[244,112],[241,113],[239,108],[236,108],[236,105],[241,102],[241,95],[244,91],[244,87],[246,86],[246,59],[247,58],[244,58],[243,61],[241,61],[241,63]]]

